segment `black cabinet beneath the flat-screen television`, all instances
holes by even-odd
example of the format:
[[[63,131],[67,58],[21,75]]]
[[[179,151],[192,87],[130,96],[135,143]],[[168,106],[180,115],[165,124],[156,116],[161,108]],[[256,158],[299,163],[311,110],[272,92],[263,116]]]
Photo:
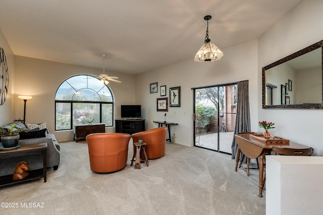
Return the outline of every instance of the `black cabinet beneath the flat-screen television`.
[[[144,119],[116,119],[116,133],[133,134],[144,130]]]

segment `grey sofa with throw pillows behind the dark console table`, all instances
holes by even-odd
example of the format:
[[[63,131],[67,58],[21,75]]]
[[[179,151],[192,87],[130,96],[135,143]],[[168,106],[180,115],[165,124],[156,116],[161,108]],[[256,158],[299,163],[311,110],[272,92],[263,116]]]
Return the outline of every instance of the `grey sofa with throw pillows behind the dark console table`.
[[[28,127],[28,124],[24,125],[21,122],[13,122],[17,126],[17,128],[29,128],[32,130],[31,132],[26,132],[26,134],[21,133],[20,136],[26,135],[28,137],[36,137],[36,138],[26,138],[26,139],[19,139],[18,145],[29,145],[29,144],[40,144],[40,143],[47,143],[47,168],[53,168],[53,170],[57,170],[60,165],[60,144],[56,140],[55,135],[48,132],[48,129],[45,127],[45,123],[41,124],[34,124]],[[10,123],[7,126],[11,126],[13,123]],[[5,127],[7,127],[5,126]],[[37,129],[38,126],[38,129]],[[32,128],[33,127],[33,128]],[[44,137],[39,137],[37,135],[36,130],[43,130],[45,129],[46,132],[43,134]],[[33,133],[33,134],[32,134]],[[39,133],[39,132],[38,132]],[[43,132],[41,132],[43,133]],[[32,135],[33,136],[32,136]],[[0,143],[1,144],[1,143]],[[2,145],[1,145],[2,146]],[[43,168],[42,166],[42,157],[41,155],[32,155],[32,156],[21,156],[10,158],[6,160],[0,160],[0,176],[10,175],[13,174],[17,164],[20,161],[26,161],[29,164],[30,170],[36,170]]]

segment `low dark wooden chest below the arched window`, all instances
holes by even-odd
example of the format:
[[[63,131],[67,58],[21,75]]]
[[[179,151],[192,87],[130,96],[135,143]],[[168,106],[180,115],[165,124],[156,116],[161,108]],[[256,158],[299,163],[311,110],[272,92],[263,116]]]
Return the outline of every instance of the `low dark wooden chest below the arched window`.
[[[74,128],[74,139],[77,142],[91,133],[105,133],[104,123],[77,124]]]

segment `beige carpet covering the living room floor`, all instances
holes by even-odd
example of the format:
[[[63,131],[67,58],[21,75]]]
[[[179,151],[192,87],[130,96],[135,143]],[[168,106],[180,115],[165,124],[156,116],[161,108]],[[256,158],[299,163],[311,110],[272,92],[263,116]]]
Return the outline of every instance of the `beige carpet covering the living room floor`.
[[[123,170],[96,174],[86,141],[62,142],[61,164],[57,171],[48,169],[46,183],[0,189],[0,202],[18,203],[1,207],[0,214],[265,214],[257,171],[249,177],[242,169],[234,172],[231,156],[172,143],[165,157],[137,170],[130,167],[132,142],[129,146]]]

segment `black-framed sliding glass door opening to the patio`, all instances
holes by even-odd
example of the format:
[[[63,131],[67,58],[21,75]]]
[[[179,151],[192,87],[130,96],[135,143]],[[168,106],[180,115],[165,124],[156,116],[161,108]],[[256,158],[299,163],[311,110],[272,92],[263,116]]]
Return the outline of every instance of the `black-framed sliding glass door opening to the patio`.
[[[194,90],[194,146],[231,154],[237,84]]]

